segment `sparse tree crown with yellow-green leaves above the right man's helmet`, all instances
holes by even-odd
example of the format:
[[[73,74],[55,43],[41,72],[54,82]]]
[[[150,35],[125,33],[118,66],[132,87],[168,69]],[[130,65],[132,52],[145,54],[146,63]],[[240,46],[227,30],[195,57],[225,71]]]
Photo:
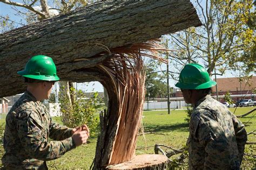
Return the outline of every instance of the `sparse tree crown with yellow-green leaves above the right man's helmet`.
[[[256,61],[256,34],[252,24],[248,24],[255,18],[253,2],[196,0],[194,3],[203,26],[167,37],[169,46],[178,50],[169,55],[173,67],[179,72],[186,63],[200,62],[210,75],[214,68],[221,75],[227,69],[251,72]]]

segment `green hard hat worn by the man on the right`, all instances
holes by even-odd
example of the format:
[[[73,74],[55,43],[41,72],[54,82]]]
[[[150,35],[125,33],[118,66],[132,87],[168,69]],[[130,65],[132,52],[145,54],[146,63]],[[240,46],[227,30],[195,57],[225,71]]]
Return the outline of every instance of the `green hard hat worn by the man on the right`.
[[[179,75],[179,81],[175,84],[181,89],[207,89],[216,85],[210,79],[206,69],[198,63],[185,65]]]

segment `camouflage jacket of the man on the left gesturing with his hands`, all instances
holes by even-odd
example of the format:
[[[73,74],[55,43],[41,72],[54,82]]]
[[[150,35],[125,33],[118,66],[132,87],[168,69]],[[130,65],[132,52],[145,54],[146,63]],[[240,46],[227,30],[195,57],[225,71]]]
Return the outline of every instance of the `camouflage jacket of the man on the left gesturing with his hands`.
[[[25,91],[6,116],[4,168],[47,169],[46,160],[75,148],[71,130],[53,123],[45,105]]]

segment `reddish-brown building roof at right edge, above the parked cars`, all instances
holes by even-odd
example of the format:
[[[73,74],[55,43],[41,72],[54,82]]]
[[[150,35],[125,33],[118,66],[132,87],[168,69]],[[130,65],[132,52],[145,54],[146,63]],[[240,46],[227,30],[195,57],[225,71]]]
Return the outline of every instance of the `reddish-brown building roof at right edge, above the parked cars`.
[[[215,79],[214,79],[215,80]],[[249,86],[251,84],[251,86]],[[253,76],[248,83],[239,82],[239,77],[227,77],[217,79],[218,91],[252,90],[256,87],[256,76]],[[241,88],[241,89],[240,89]],[[216,88],[212,88],[216,91]]]

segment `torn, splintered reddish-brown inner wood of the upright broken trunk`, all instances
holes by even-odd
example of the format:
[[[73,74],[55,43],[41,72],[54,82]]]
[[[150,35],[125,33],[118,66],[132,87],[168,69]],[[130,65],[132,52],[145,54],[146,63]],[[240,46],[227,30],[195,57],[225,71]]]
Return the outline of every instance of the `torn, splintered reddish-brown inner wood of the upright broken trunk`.
[[[129,47],[106,49],[112,58],[99,66],[114,84],[118,98],[117,132],[110,153],[109,165],[134,158],[140,119],[145,99],[145,70],[143,56],[159,58],[159,40],[133,44]],[[163,49],[161,49],[163,50]]]

